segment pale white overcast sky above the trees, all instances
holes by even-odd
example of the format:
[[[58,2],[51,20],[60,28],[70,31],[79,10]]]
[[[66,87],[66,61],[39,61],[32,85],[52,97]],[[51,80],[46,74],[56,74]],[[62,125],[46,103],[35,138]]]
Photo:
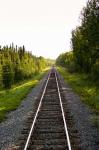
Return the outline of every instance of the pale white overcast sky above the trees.
[[[71,50],[71,31],[87,0],[0,0],[0,45],[25,45],[36,56]]]

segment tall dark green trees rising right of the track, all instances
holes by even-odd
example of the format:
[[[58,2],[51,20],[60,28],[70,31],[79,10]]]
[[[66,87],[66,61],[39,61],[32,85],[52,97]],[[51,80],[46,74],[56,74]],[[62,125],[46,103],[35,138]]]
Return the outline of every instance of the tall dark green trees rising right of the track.
[[[88,0],[81,11],[80,18],[80,26],[72,31],[73,67],[76,71],[91,73],[99,78],[99,1]]]

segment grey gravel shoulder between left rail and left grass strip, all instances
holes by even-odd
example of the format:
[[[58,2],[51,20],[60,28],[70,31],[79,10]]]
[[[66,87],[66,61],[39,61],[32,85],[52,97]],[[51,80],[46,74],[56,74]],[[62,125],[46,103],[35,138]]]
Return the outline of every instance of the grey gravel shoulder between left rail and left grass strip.
[[[8,150],[13,147],[21,135],[25,122],[33,112],[33,106],[44,86],[47,75],[31,92],[23,99],[21,105],[7,115],[7,119],[0,123],[0,150]]]

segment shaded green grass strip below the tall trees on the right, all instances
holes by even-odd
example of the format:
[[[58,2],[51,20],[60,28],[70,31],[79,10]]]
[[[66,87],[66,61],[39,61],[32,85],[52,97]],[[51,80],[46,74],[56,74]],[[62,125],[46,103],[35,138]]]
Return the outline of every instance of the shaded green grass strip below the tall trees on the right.
[[[70,73],[62,67],[58,67],[58,71],[78,93],[81,100],[99,115],[99,85],[90,80],[86,74]]]

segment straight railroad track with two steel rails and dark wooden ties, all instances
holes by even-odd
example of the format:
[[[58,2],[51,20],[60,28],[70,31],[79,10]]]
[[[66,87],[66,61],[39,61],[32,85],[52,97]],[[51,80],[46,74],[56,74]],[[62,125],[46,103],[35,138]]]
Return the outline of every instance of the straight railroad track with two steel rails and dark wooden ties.
[[[51,69],[39,101],[30,130],[26,130],[26,141],[21,143],[21,150],[81,150],[78,135],[72,138],[67,127],[66,112],[63,108],[63,96],[57,78],[56,70]],[[68,117],[68,112],[67,112]],[[70,122],[70,118],[69,118]],[[73,128],[69,123],[69,130]],[[28,132],[28,134],[27,134]],[[73,130],[77,134],[76,130]],[[73,135],[73,137],[75,137]],[[71,146],[71,144],[76,146]],[[74,148],[75,147],[75,148]]]

